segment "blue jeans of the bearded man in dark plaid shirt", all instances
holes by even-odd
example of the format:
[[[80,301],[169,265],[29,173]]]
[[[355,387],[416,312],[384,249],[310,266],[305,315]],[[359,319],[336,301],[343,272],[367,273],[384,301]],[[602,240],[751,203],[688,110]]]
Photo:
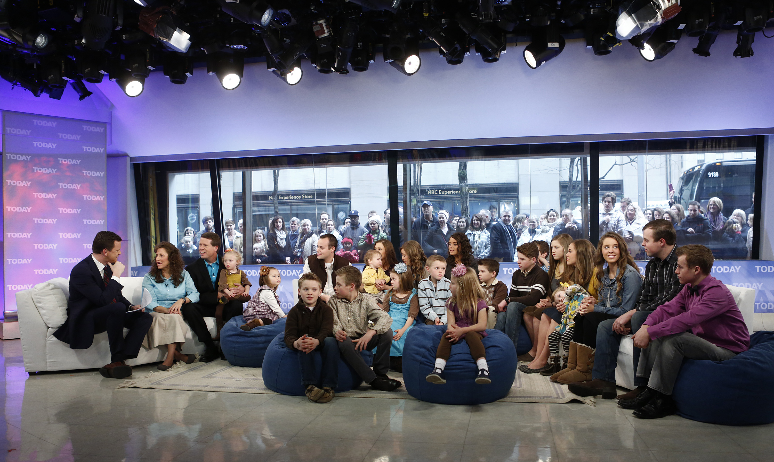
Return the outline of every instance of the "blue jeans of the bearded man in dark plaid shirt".
[[[652,311],[636,311],[632,315],[632,334],[636,334],[642,324],[645,323],[648,315]],[[594,371],[591,372],[591,376],[594,379],[606,380],[608,382],[615,382],[615,365],[618,363],[618,345],[621,344],[623,335],[615,333],[613,331],[613,323],[615,319],[608,319],[602,321],[597,328],[597,351],[594,353]],[[634,371],[637,372],[637,364],[639,363],[640,349],[635,347],[634,356]],[[634,386],[646,386],[648,380],[642,377],[634,378]]]

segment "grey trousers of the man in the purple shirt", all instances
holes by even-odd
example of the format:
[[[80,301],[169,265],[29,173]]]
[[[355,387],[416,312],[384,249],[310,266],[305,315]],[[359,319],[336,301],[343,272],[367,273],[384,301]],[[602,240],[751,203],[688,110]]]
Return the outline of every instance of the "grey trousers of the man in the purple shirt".
[[[690,332],[666,335],[650,342],[639,354],[637,376],[648,379],[648,387],[671,395],[683,358],[725,361],[735,352],[711,344]]]

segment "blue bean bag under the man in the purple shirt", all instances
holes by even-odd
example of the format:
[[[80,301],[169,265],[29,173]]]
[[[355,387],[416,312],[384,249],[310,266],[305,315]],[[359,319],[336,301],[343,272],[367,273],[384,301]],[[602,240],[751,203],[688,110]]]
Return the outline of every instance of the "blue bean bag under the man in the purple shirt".
[[[406,362],[404,361],[404,368]],[[677,415],[721,425],[774,422],[774,332],[755,332],[750,349],[723,362],[686,359],[673,399]]]

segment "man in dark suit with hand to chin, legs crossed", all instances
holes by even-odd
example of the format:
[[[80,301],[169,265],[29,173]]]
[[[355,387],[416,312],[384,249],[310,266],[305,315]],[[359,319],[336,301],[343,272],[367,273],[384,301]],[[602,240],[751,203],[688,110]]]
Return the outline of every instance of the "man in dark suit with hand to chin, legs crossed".
[[[124,379],[132,375],[127,359],[137,354],[153,322],[140,305],[132,305],[121,294],[121,236],[100,231],[91,244],[91,255],[80,260],[70,272],[70,300],[67,321],[54,332],[54,337],[74,349],[86,349],[94,335],[108,331],[110,363],[99,370],[103,377]],[[128,334],[124,337],[124,328]]]

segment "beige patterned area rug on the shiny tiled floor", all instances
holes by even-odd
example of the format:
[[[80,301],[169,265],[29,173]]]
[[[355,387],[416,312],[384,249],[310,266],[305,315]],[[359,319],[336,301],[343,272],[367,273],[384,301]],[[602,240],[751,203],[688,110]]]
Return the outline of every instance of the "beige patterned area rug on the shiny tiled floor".
[[[402,382],[401,374],[390,372],[390,376]],[[220,359],[192,364],[179,362],[168,371],[150,372],[144,377],[126,380],[117,388],[278,394],[263,384],[261,368],[238,367]],[[404,386],[394,392],[380,392],[366,385],[349,392],[336,393],[336,396],[415,399],[406,392]],[[595,405],[594,397],[584,398],[570,393],[566,385],[551,382],[548,377],[516,371],[511,392],[500,401],[503,403],[568,403],[574,399],[591,406]]]

